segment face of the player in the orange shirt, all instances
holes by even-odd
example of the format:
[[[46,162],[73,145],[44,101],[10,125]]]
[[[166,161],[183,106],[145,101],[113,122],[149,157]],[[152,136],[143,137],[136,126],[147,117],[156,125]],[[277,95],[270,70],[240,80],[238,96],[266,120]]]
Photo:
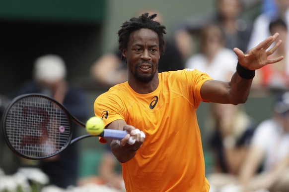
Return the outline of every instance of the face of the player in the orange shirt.
[[[129,80],[150,82],[157,73],[160,57],[157,33],[145,28],[132,32],[127,49],[122,54],[127,59]]]

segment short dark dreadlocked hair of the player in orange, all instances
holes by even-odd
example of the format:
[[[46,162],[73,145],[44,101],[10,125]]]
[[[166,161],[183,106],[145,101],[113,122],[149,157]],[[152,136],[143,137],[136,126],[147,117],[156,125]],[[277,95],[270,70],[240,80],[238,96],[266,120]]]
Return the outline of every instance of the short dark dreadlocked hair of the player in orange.
[[[148,13],[144,13],[138,18],[133,17],[130,19],[130,21],[124,22],[123,25],[121,26],[121,29],[118,31],[119,36],[118,42],[120,51],[127,48],[130,40],[130,35],[132,32],[142,28],[146,28],[157,33],[160,53],[163,54],[165,51],[165,41],[163,34],[166,34],[165,32],[166,28],[159,22],[153,20],[156,17],[156,15],[157,14],[152,14],[148,16]],[[121,58],[124,59],[123,56]]]

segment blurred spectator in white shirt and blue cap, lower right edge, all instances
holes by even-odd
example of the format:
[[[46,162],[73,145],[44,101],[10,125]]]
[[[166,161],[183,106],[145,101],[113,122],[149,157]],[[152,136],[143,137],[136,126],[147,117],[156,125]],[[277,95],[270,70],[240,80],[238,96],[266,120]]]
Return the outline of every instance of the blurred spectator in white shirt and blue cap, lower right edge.
[[[273,112],[271,119],[256,128],[241,168],[240,181],[245,192],[289,192],[289,92],[276,100]],[[256,174],[261,165],[262,172]]]

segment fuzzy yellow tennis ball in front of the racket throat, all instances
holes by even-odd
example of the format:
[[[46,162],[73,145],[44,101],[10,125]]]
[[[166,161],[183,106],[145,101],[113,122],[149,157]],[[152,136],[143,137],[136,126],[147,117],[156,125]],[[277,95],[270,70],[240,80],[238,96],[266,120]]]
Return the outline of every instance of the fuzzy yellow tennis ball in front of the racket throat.
[[[90,117],[86,121],[85,129],[90,135],[99,135],[104,130],[104,122],[100,117]]]

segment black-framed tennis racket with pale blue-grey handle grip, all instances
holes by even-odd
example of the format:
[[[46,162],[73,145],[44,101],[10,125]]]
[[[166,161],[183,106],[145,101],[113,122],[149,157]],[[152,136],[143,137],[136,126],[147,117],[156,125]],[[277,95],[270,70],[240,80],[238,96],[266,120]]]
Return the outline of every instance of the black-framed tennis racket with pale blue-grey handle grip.
[[[41,94],[15,97],[5,108],[2,129],[9,148],[27,159],[45,159],[55,156],[67,146],[92,135],[82,135],[72,140],[73,127],[85,124],[53,98]],[[122,140],[128,133],[104,129],[97,136]]]

